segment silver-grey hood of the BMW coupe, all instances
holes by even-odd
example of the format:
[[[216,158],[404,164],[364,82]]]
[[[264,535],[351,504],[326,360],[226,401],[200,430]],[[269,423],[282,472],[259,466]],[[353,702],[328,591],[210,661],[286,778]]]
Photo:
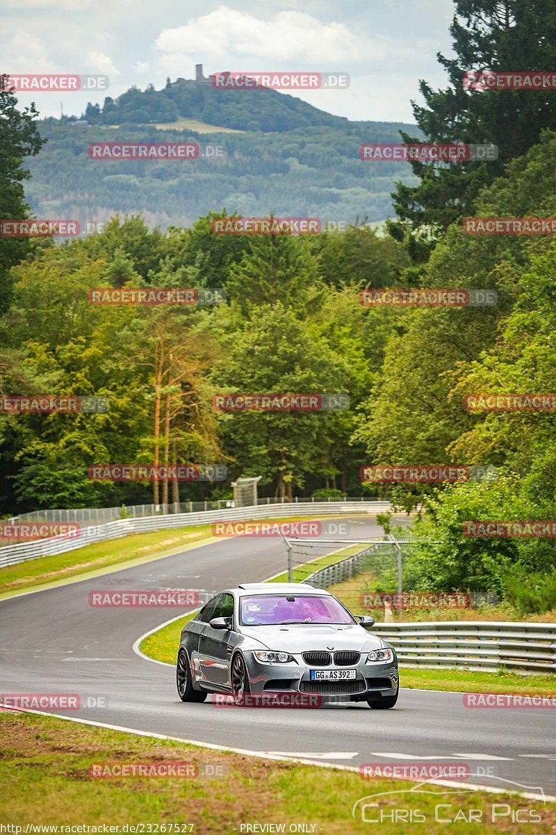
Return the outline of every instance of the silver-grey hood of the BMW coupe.
[[[383,640],[362,626],[293,624],[282,626],[242,626],[242,635],[263,644],[268,650],[289,653],[309,650],[358,650],[370,652],[385,646]]]

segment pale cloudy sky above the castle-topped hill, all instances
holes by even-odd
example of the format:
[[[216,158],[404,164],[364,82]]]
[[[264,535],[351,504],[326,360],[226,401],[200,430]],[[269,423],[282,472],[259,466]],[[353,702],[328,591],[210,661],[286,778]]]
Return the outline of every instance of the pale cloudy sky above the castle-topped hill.
[[[114,98],[135,84],[244,70],[346,72],[349,89],[299,98],[348,119],[413,121],[418,79],[444,86],[452,0],[3,0],[0,71],[101,73]],[[105,93],[20,94],[41,114],[81,114]]]

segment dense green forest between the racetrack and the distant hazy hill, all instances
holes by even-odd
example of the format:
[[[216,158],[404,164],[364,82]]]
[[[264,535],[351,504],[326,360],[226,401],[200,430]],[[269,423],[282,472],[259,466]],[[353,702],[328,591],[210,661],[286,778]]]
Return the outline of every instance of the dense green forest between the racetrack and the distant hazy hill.
[[[556,12],[543,0],[526,10],[513,0],[455,5],[448,88],[423,82],[415,117],[433,141],[498,143],[501,161],[415,164],[417,185],[398,186],[388,235],[354,224],[340,234],[218,236],[205,213],[167,230],[115,216],[102,233],[63,245],[0,239],[0,393],[97,394],[111,404],[99,414],[0,416],[4,512],[149,500],[149,485],[90,481],[95,462],[221,461],[229,480],[262,476],[263,495],[381,492],[405,509],[424,500],[408,561],[413,588],[493,590],[524,611],[556,608],[553,539],[463,535],[468,519],[556,519],[553,413],[463,406],[472,392],[554,392],[556,244],[551,235],[466,235],[461,225],[470,214],[556,216],[555,94],[459,88],[463,66],[506,69],[514,55],[522,70],[550,64]],[[543,49],[527,57],[532,25]],[[0,139],[14,149],[3,216],[18,217],[27,211],[23,157],[44,152],[33,114],[17,114],[9,93],[0,108],[0,132],[10,124]],[[289,216],[305,214],[293,206]],[[149,285],[222,287],[227,301],[88,303],[90,287]],[[358,293],[368,287],[491,288],[498,303],[365,307]],[[213,394],[223,391],[344,392],[351,407],[215,412]],[[497,478],[363,485],[359,468],[372,463],[483,464]],[[173,485],[161,487],[164,497]]]

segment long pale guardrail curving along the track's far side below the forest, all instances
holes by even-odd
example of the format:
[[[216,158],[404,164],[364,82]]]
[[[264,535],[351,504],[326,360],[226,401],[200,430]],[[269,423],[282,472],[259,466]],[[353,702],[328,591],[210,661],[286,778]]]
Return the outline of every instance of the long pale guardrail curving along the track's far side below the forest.
[[[297,504],[259,505],[227,510],[207,510],[192,514],[168,514],[137,519],[118,519],[107,524],[81,529],[76,537],[49,537],[35,542],[22,542],[0,548],[0,568],[26,562],[28,559],[64,554],[104,539],[118,539],[127,534],[144,534],[150,530],[190,528],[211,522],[241,522],[248,519],[280,519],[284,516],[326,516],[355,513],[385,513],[389,502],[311,502]]]

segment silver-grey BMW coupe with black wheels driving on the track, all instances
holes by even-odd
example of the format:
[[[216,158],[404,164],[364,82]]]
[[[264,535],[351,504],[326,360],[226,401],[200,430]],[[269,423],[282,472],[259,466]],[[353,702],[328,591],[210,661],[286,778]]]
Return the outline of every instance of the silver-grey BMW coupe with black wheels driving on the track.
[[[373,624],[308,584],[243,583],[208,600],[185,625],[178,695],[205,701],[208,693],[227,694],[248,705],[264,694],[312,694],[393,707],[396,650],[368,631]]]

